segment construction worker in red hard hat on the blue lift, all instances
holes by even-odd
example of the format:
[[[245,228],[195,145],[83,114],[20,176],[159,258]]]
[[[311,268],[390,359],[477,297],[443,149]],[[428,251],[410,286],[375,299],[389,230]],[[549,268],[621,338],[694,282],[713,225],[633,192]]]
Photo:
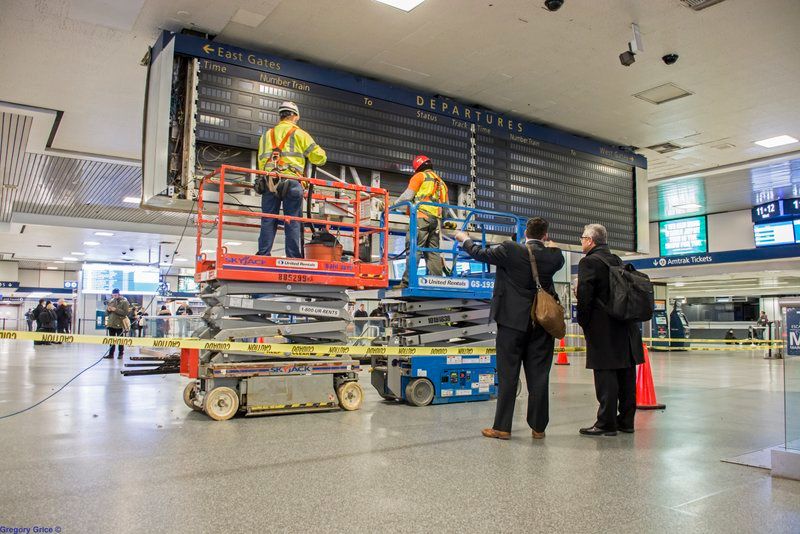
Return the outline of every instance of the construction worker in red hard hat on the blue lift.
[[[447,204],[447,185],[438,174],[433,171],[433,164],[427,156],[419,155],[411,162],[414,175],[408,182],[406,189],[397,204],[410,201],[414,204],[420,202],[436,202]],[[439,206],[422,205],[417,208],[417,247],[439,248],[441,236],[442,208]],[[406,236],[406,246],[410,247],[411,236]],[[438,252],[417,252],[417,263],[425,256],[425,266],[428,274],[442,276],[444,264],[442,255]],[[406,262],[406,271],[398,287],[408,287],[408,271],[412,269],[411,256]]]

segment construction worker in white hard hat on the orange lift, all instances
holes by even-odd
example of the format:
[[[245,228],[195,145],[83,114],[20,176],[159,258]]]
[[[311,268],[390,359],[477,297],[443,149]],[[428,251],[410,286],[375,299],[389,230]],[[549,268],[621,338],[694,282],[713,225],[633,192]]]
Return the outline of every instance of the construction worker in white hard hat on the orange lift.
[[[284,102],[278,108],[280,122],[264,132],[258,141],[258,168],[262,171],[277,171],[281,174],[303,176],[306,159],[314,165],[325,165],[328,157],[305,130],[297,126],[300,110],[294,102]],[[303,184],[297,180],[259,176],[256,192],[261,194],[261,211],[277,215],[283,204],[284,215],[303,216]],[[287,258],[302,258],[300,239],[302,225],[299,221],[284,222]],[[259,256],[269,256],[278,219],[261,219],[258,235]]]

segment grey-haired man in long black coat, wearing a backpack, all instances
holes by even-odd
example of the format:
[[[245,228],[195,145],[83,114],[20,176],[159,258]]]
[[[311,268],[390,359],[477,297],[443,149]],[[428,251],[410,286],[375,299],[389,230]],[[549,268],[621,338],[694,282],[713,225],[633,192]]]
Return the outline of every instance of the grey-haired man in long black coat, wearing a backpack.
[[[636,365],[644,363],[642,334],[635,322],[618,321],[606,312],[609,265],[622,260],[608,248],[608,233],[587,224],[581,235],[586,256],[578,264],[578,324],[586,337],[586,368],[594,371],[600,408],[594,425],[581,428],[586,436],[616,436],[633,432],[636,414]]]

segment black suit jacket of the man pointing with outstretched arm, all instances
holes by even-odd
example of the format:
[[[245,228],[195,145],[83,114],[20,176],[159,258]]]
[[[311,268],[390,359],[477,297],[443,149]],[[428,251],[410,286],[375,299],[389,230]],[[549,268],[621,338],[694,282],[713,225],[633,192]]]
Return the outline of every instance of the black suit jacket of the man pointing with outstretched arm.
[[[497,267],[491,319],[501,326],[527,331],[531,325],[531,306],[536,296],[536,284],[525,245],[505,241],[496,247],[484,248],[468,239],[461,248],[472,258]],[[564,254],[559,248],[545,247],[541,241],[533,241],[533,248],[539,269],[539,282],[545,291],[556,296],[553,275],[564,266]]]

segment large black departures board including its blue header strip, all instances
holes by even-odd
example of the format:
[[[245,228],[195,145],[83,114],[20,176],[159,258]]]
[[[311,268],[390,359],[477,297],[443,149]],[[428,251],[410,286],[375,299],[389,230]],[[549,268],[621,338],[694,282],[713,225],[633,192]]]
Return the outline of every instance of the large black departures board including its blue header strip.
[[[409,176],[411,160],[425,154],[445,181],[462,193],[471,188],[477,208],[544,217],[551,238],[574,245],[586,224],[599,223],[607,228],[612,248],[637,249],[637,222],[641,228],[648,214],[637,213],[637,194],[647,193],[637,192],[636,183],[647,165],[625,147],[478,104],[196,36],[165,32],[153,56],[172,45],[175,57],[196,59],[194,133],[203,165],[226,161],[215,156],[219,147],[236,149],[231,153],[246,161],[261,134],[278,122],[280,103],[290,100],[300,107],[300,126],[332,164],[397,178]],[[207,153],[200,153],[204,148]],[[459,187],[451,188],[451,203],[458,193]],[[490,231],[494,221],[503,233],[513,229],[502,217],[480,220]]]

